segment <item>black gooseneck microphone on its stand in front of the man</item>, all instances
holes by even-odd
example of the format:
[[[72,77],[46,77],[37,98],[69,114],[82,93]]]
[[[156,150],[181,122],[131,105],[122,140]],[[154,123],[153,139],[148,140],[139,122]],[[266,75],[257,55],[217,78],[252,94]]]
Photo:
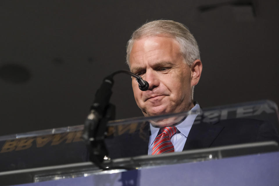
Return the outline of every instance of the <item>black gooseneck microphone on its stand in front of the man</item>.
[[[147,81],[126,70],[116,71],[103,79],[103,83],[95,94],[95,99],[85,120],[83,130],[83,140],[87,146],[89,160],[100,169],[106,169],[103,167],[102,162],[110,160],[104,139],[107,134],[108,121],[115,119],[115,105],[109,101],[114,83],[113,76],[119,73],[126,73],[135,77],[142,91],[148,90],[149,87]]]

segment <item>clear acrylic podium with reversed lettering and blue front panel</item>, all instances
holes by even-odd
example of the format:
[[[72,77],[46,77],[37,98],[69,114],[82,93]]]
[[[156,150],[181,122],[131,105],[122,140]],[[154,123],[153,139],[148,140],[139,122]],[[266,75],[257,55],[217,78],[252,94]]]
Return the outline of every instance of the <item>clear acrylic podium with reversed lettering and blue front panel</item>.
[[[83,125],[1,136],[0,185],[279,184],[279,148],[272,141],[147,155],[150,122],[188,115],[197,115],[194,125],[253,118],[279,127],[277,105],[267,100],[110,121],[105,139],[109,155],[103,162],[108,170],[88,161]],[[138,149],[121,146],[127,136]]]

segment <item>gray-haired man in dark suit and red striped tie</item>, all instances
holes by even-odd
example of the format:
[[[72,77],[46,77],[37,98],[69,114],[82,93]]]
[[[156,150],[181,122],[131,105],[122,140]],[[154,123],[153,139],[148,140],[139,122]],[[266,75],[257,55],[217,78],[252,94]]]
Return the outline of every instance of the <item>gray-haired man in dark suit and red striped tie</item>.
[[[149,89],[141,91],[135,78],[132,78],[135,101],[144,116],[200,108],[193,101],[193,92],[201,77],[202,63],[198,44],[183,24],[171,20],[144,24],[128,41],[126,60],[130,71],[149,83]],[[148,150],[147,144],[144,144],[148,154],[263,140],[279,141],[276,131],[263,121],[236,119],[217,124],[193,125],[196,116],[151,122],[150,131],[147,130]],[[136,141],[133,140],[134,136],[126,139],[128,143],[131,142],[130,146]],[[139,149],[137,147],[130,152]],[[127,153],[124,156],[131,155],[134,154]]]

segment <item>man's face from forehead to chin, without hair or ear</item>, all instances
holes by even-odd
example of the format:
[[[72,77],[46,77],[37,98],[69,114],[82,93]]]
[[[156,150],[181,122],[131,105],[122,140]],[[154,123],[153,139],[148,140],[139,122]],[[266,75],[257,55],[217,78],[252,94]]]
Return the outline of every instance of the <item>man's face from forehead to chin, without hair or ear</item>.
[[[144,116],[183,112],[193,107],[191,68],[184,62],[174,38],[151,36],[135,40],[130,70],[149,83],[149,89],[141,91],[132,78],[135,101]]]

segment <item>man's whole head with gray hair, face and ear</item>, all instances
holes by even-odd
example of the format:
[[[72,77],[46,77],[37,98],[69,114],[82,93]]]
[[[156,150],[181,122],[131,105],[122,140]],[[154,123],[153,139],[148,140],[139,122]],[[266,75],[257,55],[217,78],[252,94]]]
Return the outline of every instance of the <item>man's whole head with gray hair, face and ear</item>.
[[[144,116],[194,107],[194,86],[201,77],[202,63],[198,44],[183,24],[167,20],[144,24],[127,44],[127,63],[131,72],[149,83],[149,90],[142,92],[135,78],[132,80],[135,100]]]

